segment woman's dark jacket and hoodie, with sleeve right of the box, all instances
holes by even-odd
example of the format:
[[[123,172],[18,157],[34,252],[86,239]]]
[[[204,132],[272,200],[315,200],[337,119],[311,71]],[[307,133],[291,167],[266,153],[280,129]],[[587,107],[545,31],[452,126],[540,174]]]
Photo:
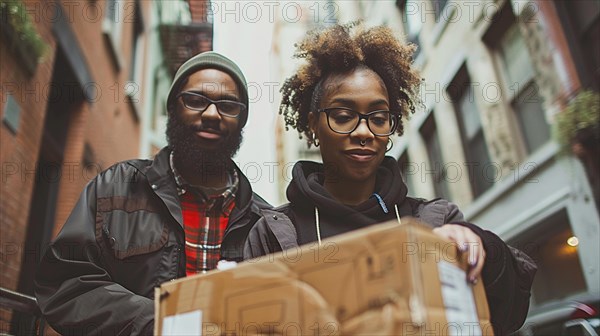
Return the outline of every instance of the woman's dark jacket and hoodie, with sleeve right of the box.
[[[372,197],[354,207],[341,204],[323,187],[321,164],[298,162],[287,189],[290,203],[263,211],[263,218],[250,230],[244,258],[316,241],[315,208],[318,209],[322,238],[393,220],[396,210],[400,217],[416,217],[432,227],[459,224],[473,230],[483,241],[486,260],[482,278],[496,334],[507,334],[523,324],[537,269],[527,255],[509,247],[494,233],[465,222],[453,203],[443,199],[425,201],[407,197],[398,164],[391,157],[384,159],[377,172],[375,190],[383,202]]]

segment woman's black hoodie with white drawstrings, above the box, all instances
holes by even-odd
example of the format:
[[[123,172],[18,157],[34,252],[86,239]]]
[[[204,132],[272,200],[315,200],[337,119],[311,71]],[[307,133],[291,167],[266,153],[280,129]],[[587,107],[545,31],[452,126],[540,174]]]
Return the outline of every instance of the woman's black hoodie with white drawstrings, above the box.
[[[402,180],[398,163],[391,157],[386,157],[377,171],[377,195],[373,194],[357,206],[345,205],[333,198],[323,186],[323,179],[322,164],[298,162],[287,189],[290,203],[278,209],[290,217],[301,245],[317,240],[316,214],[319,217],[322,239],[388,220],[396,221],[396,211],[399,217],[420,218],[426,204],[430,204],[429,209],[425,213],[426,218],[421,220],[431,226],[463,220],[458,208],[445,200],[426,202],[407,197],[406,184]]]

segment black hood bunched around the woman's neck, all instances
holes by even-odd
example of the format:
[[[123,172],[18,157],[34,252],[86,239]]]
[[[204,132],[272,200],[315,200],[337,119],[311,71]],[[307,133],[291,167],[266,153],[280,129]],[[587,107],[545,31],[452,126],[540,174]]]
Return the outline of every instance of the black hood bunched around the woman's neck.
[[[375,183],[375,192],[383,199],[388,209],[387,214],[375,197],[356,206],[340,203],[325,189],[323,181],[323,164],[299,161],[292,170],[292,181],[287,189],[287,198],[294,207],[310,211],[310,213],[316,207],[327,222],[344,225],[343,231],[396,218],[394,204],[400,206],[407,193],[398,163],[389,156],[386,156],[379,166]],[[336,220],[331,221],[327,218]],[[335,223],[332,225],[337,225]]]

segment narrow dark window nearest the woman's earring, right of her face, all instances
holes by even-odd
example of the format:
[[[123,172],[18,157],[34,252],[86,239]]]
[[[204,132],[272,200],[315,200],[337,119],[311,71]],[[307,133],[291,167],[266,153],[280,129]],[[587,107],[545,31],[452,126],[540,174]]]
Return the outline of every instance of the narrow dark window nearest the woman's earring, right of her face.
[[[444,175],[444,160],[442,159],[442,147],[438,138],[435,121],[433,120],[433,112],[429,115],[423,126],[421,127],[421,136],[425,141],[427,155],[429,157],[428,169],[424,169],[424,176],[429,176],[433,173],[433,190],[435,197],[449,199],[448,185],[446,184],[446,176]]]

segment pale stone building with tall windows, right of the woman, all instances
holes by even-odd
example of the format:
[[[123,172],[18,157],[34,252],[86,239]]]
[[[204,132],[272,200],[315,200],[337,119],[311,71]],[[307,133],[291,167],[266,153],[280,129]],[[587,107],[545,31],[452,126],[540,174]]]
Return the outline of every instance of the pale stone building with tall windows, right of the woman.
[[[581,90],[598,90],[600,3],[331,3],[339,22],[388,25],[418,46],[423,104],[388,154],[398,159],[409,195],[452,200],[467,220],[537,261],[522,333],[559,332],[542,329],[566,317],[558,308],[600,298],[599,211],[581,162],[552,137],[557,113]],[[282,69],[283,77],[292,69]],[[281,164],[319,158],[283,129],[276,130]],[[282,176],[284,202],[289,180]]]

